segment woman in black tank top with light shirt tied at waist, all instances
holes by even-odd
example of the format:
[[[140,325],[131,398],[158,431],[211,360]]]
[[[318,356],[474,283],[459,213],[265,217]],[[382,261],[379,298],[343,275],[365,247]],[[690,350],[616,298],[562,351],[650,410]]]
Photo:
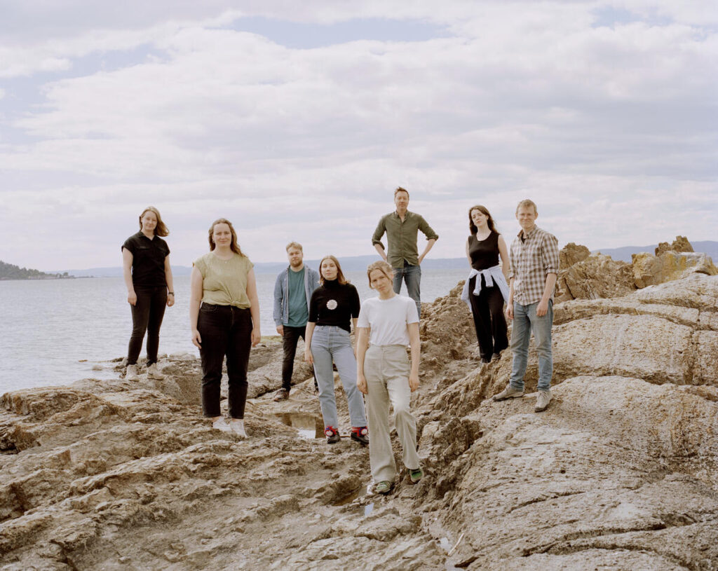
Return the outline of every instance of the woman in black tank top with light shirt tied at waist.
[[[503,315],[504,296],[508,295],[508,249],[503,237],[496,231],[488,209],[481,205],[469,209],[469,230],[466,257],[472,270],[479,273],[473,275],[467,284],[468,301],[474,317],[481,361],[488,363],[498,359],[501,351],[508,347]],[[501,268],[498,267],[499,257]],[[477,283],[477,280],[480,281]],[[474,293],[477,286],[480,290],[478,295]]]

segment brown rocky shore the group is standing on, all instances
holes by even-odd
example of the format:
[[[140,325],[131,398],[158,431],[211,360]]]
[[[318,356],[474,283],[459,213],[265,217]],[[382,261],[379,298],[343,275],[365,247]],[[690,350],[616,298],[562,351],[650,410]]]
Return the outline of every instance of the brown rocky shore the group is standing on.
[[[426,477],[386,497],[368,490],[367,450],[313,438],[305,364],[271,399],[278,342],[252,353],[247,440],[202,419],[188,354],[162,359],[161,381],[118,366],[6,393],[0,569],[718,570],[718,270],[676,249],[625,264],[564,248],[540,414],[531,395],[490,399],[510,351],[472,357],[461,284],[424,304]],[[537,372],[531,349],[527,392]]]

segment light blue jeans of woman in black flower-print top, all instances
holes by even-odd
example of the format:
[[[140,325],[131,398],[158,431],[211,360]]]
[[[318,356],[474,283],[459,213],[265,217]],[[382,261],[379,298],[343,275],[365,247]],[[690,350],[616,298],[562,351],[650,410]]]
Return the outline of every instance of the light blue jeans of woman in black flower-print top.
[[[339,428],[332,361],[337,366],[344,392],[347,395],[352,426],[366,426],[364,400],[357,388],[357,361],[349,339],[349,332],[341,327],[330,325],[314,327],[312,357],[314,358],[314,376],[319,385],[319,403],[322,407],[325,427]]]

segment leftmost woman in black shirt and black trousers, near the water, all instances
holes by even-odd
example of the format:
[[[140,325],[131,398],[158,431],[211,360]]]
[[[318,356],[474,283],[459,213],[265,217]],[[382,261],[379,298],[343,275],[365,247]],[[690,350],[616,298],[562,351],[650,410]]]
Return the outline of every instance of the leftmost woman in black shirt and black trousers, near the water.
[[[147,334],[147,378],[164,379],[157,370],[159,327],[165,305],[174,305],[172,268],[169,246],[160,236],[169,230],[155,207],[146,207],[139,215],[139,232],[122,245],[122,269],[127,286],[127,301],[132,310],[132,335],[127,349],[127,371],[130,381],[137,376],[137,357]]]

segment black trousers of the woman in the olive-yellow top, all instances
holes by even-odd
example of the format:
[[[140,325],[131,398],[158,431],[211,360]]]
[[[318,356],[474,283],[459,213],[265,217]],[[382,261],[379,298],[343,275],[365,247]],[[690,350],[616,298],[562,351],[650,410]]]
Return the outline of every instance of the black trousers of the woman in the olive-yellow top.
[[[202,412],[220,416],[222,363],[227,356],[229,415],[244,417],[247,401],[247,369],[252,348],[252,317],[249,309],[202,303],[197,317],[202,338]]]

